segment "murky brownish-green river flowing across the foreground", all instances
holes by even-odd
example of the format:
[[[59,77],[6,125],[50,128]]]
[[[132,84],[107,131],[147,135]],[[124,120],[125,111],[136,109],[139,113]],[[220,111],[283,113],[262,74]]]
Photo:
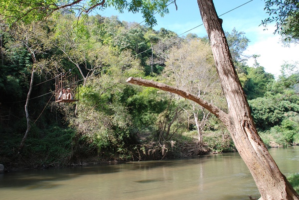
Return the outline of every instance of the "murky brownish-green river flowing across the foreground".
[[[287,177],[299,146],[269,150]],[[259,198],[238,153],[0,174],[0,200],[249,200]]]

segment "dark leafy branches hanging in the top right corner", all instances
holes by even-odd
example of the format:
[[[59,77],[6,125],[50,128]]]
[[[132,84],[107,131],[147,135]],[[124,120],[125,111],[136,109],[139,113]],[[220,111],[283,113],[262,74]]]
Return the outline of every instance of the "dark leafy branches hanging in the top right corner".
[[[270,15],[262,21],[266,27],[276,22],[275,33],[289,41],[299,41],[299,3],[298,0],[265,0],[264,10]]]

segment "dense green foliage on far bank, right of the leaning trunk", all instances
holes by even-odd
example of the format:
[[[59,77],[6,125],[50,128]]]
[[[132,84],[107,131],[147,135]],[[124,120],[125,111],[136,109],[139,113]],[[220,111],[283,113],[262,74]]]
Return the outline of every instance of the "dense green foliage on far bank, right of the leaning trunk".
[[[283,65],[279,79],[268,83],[264,96],[249,100],[256,125],[263,131],[262,138],[268,145],[271,142],[278,146],[298,143],[297,68],[296,64]]]

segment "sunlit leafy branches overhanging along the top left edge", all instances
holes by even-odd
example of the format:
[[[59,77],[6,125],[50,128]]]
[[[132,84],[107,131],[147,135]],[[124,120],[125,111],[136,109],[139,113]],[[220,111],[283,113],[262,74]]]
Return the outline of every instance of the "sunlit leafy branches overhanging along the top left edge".
[[[142,13],[146,25],[156,24],[155,13],[168,13],[167,5],[172,0],[1,0],[0,19],[11,25],[18,21],[29,23],[44,20],[57,10],[71,10],[78,15],[95,9],[114,7],[120,13]]]

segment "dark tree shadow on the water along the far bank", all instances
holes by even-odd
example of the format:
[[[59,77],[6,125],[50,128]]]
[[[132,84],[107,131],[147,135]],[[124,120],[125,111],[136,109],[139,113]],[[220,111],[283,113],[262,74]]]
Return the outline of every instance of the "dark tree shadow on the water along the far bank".
[[[158,160],[158,161],[141,161],[127,162],[121,164],[104,164],[104,165],[87,165],[67,168],[51,168],[51,169],[33,169],[21,170],[16,172],[6,172],[0,174],[0,188],[24,188],[28,190],[53,189],[59,187],[59,184],[51,182],[75,179],[80,176],[121,173],[124,171],[136,170],[152,170],[160,167],[175,167],[177,165],[197,165],[198,163],[207,162],[215,159],[216,156],[228,155],[204,155],[179,160]],[[196,162],[194,162],[196,160]],[[9,181],[7,181],[9,179]],[[158,182],[160,180],[146,179],[137,180],[137,183]]]

